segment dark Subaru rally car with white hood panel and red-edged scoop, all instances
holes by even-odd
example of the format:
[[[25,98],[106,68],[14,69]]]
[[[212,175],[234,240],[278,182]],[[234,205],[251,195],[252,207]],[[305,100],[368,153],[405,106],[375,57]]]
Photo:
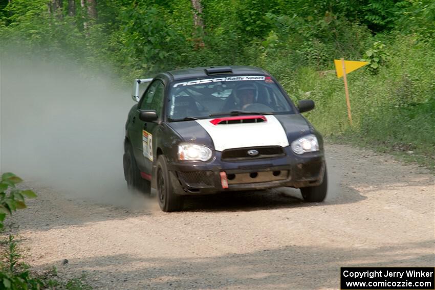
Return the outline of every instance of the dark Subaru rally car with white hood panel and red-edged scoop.
[[[327,195],[323,140],[300,114],[314,102],[295,106],[265,70],[168,71],[136,79],[133,99],[125,180],[129,188],[155,188],[163,211],[182,210],[194,194],[293,187],[307,202]]]

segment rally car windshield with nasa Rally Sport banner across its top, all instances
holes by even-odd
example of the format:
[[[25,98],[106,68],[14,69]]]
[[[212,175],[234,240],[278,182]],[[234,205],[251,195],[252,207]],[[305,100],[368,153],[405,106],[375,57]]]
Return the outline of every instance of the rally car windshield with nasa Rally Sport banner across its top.
[[[188,79],[170,85],[169,121],[251,112],[293,113],[289,101],[267,76]]]

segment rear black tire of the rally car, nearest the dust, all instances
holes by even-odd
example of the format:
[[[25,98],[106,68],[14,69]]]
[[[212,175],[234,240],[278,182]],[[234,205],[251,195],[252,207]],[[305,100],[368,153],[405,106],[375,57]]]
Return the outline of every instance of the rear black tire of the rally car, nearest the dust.
[[[150,182],[144,180],[140,175],[140,170],[136,164],[132,145],[125,145],[123,156],[124,178],[130,191],[138,189],[143,193],[150,193]]]

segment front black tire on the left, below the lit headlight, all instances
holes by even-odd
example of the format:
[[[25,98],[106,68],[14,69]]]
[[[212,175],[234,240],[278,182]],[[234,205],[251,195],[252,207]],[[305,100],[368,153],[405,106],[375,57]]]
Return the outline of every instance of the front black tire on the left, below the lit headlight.
[[[169,180],[169,172],[166,160],[163,155],[157,159],[157,198],[162,211],[180,211],[183,209],[184,197],[173,192],[172,184]]]

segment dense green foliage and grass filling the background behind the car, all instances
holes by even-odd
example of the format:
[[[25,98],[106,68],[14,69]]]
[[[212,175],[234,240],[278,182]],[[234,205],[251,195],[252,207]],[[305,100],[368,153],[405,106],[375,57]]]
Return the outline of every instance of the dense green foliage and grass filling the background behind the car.
[[[58,0],[62,2],[61,0]],[[88,2],[89,0],[86,0]],[[249,64],[269,70],[325,135],[432,159],[435,145],[435,2],[432,0],[98,0],[98,17],[75,1],[1,1],[2,45],[50,61],[116,71],[125,82],[164,69]],[[2,55],[4,57],[4,55]],[[367,60],[349,75],[346,117],[333,59]]]

